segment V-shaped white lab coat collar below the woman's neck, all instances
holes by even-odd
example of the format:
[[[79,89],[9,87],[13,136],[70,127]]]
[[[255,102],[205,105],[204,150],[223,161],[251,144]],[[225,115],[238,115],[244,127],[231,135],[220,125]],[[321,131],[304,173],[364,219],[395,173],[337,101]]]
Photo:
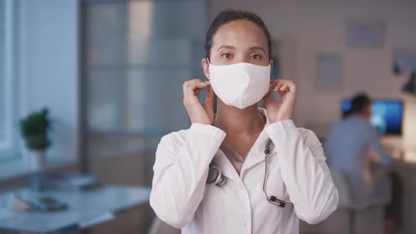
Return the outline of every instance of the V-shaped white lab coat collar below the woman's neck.
[[[264,125],[265,129],[268,125],[270,125],[269,118],[267,118],[267,111],[264,108],[259,108],[259,113],[266,117],[266,124]],[[243,167],[241,168],[240,175],[238,175],[237,171],[235,171],[233,164],[231,164],[231,162],[228,160],[224,152],[221,151],[221,149],[219,149],[218,152],[216,152],[213,161],[214,164],[221,168],[221,171],[224,174],[224,176],[233,180],[235,183],[240,184],[242,183],[241,178],[243,178],[246,170],[264,161],[264,149],[266,147],[267,142],[270,140],[269,136],[267,135],[264,129],[262,130],[262,133],[260,133],[252,149],[250,149],[250,152],[248,152],[247,157],[243,163]],[[273,152],[272,149],[273,145],[270,144],[271,154]]]

